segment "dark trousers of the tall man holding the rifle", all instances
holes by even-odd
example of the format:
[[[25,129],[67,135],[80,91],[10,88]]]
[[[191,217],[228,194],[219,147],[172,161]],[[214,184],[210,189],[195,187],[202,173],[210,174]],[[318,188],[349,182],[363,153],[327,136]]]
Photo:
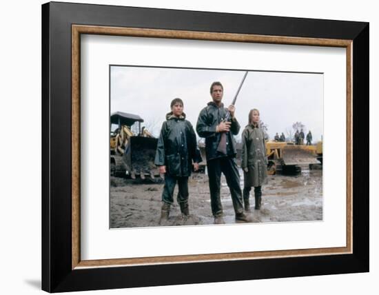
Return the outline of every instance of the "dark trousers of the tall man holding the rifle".
[[[234,159],[230,156],[223,156],[207,161],[207,171],[209,178],[209,191],[211,194],[211,207],[214,216],[223,215],[223,207],[221,205],[221,172],[225,175],[227,186],[232,195],[234,212],[236,214],[243,213],[243,199],[240,190],[240,174]]]

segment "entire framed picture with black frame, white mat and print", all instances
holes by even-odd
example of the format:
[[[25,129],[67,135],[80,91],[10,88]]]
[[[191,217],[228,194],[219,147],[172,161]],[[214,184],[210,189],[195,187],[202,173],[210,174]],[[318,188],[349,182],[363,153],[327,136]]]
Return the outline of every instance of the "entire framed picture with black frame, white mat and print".
[[[42,6],[42,288],[369,271],[369,23]]]

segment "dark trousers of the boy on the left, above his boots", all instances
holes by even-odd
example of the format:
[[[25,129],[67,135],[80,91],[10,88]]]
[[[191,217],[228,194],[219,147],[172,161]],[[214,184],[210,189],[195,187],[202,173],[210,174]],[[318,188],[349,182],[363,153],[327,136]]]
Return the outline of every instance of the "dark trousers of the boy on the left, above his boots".
[[[165,203],[174,203],[174,189],[176,182],[178,183],[178,203],[185,203],[188,201],[188,176],[176,177],[169,173],[165,174],[165,187],[163,187],[162,201]]]

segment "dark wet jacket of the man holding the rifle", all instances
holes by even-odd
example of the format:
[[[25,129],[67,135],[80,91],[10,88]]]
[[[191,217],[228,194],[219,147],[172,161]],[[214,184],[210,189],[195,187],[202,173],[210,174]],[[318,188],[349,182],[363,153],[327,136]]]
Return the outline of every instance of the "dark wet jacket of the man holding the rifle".
[[[198,136],[205,138],[205,154],[207,161],[225,156],[217,151],[220,143],[221,132],[216,132],[216,126],[223,121],[227,114],[227,109],[221,103],[220,108],[213,101],[209,102],[198,115],[196,131]],[[227,155],[235,157],[237,154],[233,135],[240,131],[240,124],[236,119],[232,119],[230,132],[227,132]]]

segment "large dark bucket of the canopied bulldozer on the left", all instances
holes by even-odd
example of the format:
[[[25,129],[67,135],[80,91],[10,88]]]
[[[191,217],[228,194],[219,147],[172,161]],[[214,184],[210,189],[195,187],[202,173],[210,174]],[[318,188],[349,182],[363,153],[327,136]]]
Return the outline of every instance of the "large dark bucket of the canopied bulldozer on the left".
[[[156,145],[158,139],[131,136],[125,147],[123,161],[127,172],[133,176],[139,175],[145,179],[145,175],[159,175],[158,168],[154,165]]]

